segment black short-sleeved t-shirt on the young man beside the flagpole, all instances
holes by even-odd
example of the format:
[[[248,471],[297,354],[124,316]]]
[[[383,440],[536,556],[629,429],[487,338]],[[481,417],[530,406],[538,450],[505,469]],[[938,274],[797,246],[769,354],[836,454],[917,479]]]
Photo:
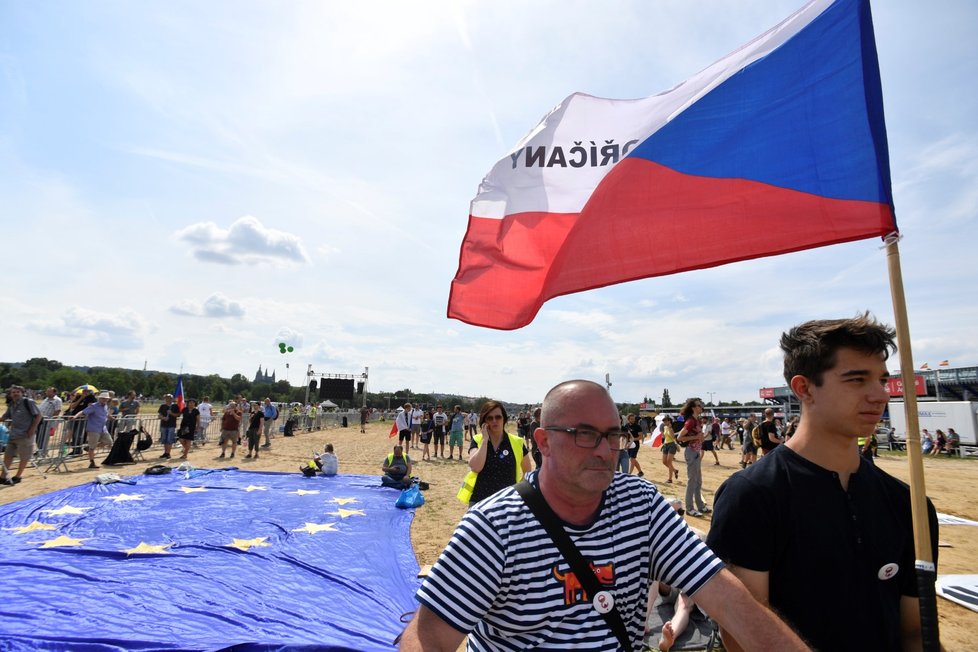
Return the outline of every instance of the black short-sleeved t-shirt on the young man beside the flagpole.
[[[709,546],[769,573],[771,607],[818,650],[900,650],[900,597],[917,595],[909,487],[859,464],[843,489],[838,474],[778,446],[714,500]]]

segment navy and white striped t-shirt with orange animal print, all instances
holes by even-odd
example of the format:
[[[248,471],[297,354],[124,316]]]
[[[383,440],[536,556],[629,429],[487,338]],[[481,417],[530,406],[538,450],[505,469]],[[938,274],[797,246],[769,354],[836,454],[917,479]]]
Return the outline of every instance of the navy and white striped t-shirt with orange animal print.
[[[528,476],[536,484],[536,473]],[[642,644],[650,578],[693,595],[723,567],[654,485],[616,474],[594,523],[564,524],[631,637]],[[466,512],[418,590],[469,650],[620,649],[536,517],[512,487]]]

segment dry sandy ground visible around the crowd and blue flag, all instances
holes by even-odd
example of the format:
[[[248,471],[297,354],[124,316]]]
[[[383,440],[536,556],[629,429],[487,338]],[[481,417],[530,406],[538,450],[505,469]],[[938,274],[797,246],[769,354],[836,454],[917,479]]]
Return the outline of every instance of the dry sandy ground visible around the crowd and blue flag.
[[[298,467],[311,456],[313,450],[321,451],[331,442],[340,459],[341,473],[367,473],[380,475],[380,465],[390,452],[392,440],[388,439],[389,423],[372,423],[366,434],[351,421],[350,428],[330,428],[326,431],[303,432],[296,437],[278,437],[273,440],[270,450],[263,452],[258,461],[237,458],[242,469],[262,471],[288,471],[298,473]],[[108,451],[106,451],[107,453]],[[147,462],[126,467],[103,467],[98,470],[87,468],[87,459],[69,463],[69,470],[48,473],[43,477],[41,470],[28,467],[24,480],[15,486],[0,487],[0,504],[54,491],[83,482],[91,482],[95,476],[104,472],[117,472],[120,475],[142,473],[160,454],[158,446],[147,452]],[[190,462],[198,467],[225,466],[217,459],[218,448],[214,444],[195,449]],[[412,458],[420,458],[419,451],[410,451]],[[417,453],[417,454],[416,454]],[[456,452],[456,455],[458,453]],[[713,491],[730,474],[739,470],[736,451],[720,452],[720,466],[714,466],[711,458],[705,460],[703,467],[704,490],[707,502],[712,502]],[[653,482],[665,479],[665,470],[660,463],[657,450],[643,447],[639,461],[644,467],[646,477]],[[680,456],[681,457],[681,456]],[[104,459],[104,455],[96,459]],[[879,465],[892,475],[908,480],[907,460],[903,455],[883,453]],[[685,469],[681,460],[676,461],[681,479]],[[174,466],[176,464],[174,463]],[[43,467],[42,467],[43,468]],[[455,499],[466,466],[456,460],[433,459],[431,462],[416,462],[414,475],[430,483],[426,492],[426,503],[417,510],[412,527],[412,539],[418,563],[422,566],[433,563],[451,536],[458,519],[464,513],[464,506]],[[978,521],[978,502],[974,491],[978,487],[978,461],[947,458],[927,458],[924,472],[928,495],[939,512],[953,514]],[[660,484],[664,493],[681,497],[685,486]],[[691,525],[700,529],[709,528],[708,518],[687,517]],[[942,574],[978,573],[978,528],[970,526],[945,526],[940,533],[939,551]],[[978,633],[978,613],[969,611],[943,598],[938,598],[940,613],[941,640],[947,650],[972,650],[976,648],[975,635]],[[853,615],[853,617],[856,617]]]

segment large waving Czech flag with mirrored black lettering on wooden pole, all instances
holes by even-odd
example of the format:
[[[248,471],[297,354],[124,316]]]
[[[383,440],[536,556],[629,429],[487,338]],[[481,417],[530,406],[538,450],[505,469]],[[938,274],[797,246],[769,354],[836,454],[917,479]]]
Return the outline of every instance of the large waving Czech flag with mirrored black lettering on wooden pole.
[[[896,230],[869,2],[814,0],[664,93],[547,114],[472,201],[448,316],[515,329],[556,296]]]

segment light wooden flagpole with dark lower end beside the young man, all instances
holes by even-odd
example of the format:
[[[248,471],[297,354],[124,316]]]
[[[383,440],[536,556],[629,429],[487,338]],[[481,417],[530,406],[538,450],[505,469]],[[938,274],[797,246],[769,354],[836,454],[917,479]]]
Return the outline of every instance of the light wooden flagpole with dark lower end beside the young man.
[[[934,564],[933,544],[927,518],[927,492],[924,487],[924,462],[920,449],[917,393],[914,383],[913,351],[910,346],[910,326],[907,301],[903,293],[903,272],[900,269],[900,249],[897,234],[886,237],[886,260],[890,272],[890,294],[893,298],[893,317],[896,321],[897,349],[900,355],[900,375],[903,378],[903,405],[907,413],[907,463],[910,466],[910,508],[913,517],[914,549],[916,550],[917,590],[920,595],[920,624],[925,651],[940,650],[937,622],[937,595],[934,584],[937,567]]]

